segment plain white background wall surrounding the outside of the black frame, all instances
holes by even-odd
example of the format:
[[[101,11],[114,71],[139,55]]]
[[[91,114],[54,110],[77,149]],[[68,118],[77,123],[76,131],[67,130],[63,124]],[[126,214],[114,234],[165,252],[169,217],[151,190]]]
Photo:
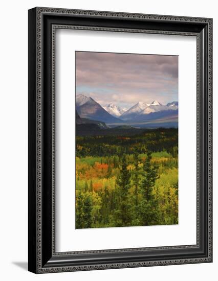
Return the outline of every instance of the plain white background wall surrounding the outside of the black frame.
[[[35,6],[120,12],[213,17],[214,77],[214,262],[180,266],[116,269],[35,275],[27,271],[27,77],[28,9]],[[216,1],[100,1],[45,0],[1,3],[1,100],[0,100],[0,278],[2,280],[215,280],[218,266],[217,243],[217,49]]]

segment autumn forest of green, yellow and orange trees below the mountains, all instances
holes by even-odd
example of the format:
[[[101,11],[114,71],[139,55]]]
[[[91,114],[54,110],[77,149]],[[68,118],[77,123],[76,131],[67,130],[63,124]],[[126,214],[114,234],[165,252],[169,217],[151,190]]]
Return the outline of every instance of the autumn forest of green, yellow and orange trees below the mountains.
[[[178,224],[178,129],[76,136],[76,228]]]

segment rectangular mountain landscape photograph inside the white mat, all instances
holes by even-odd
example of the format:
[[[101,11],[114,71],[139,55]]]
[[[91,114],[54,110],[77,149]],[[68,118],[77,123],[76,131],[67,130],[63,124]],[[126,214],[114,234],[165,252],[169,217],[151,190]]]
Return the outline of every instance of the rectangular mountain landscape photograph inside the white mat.
[[[75,51],[76,229],[179,224],[178,69]]]

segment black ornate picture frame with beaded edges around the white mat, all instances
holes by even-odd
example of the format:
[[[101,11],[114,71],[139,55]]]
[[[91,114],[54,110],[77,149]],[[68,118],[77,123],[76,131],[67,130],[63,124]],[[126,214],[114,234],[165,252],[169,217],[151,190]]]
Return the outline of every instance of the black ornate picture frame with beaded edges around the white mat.
[[[55,30],[197,37],[197,244],[55,251]],[[212,262],[212,19],[102,11],[29,10],[29,271]]]

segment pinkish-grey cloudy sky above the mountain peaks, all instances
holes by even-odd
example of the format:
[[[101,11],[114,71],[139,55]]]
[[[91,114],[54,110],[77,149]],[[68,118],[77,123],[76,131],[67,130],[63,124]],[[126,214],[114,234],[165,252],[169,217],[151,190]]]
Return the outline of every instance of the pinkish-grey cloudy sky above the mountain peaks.
[[[76,95],[105,106],[178,101],[178,56],[76,52]]]

